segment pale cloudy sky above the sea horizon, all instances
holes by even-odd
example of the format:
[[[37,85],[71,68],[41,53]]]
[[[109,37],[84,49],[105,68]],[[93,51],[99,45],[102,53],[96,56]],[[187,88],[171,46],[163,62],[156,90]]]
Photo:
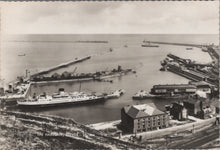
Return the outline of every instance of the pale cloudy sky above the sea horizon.
[[[218,34],[219,2],[1,3],[6,34]]]

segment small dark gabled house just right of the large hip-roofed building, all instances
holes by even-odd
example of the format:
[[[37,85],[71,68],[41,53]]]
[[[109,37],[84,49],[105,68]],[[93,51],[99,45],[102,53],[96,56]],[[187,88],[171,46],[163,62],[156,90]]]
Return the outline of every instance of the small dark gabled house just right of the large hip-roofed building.
[[[170,115],[173,117],[173,119],[182,121],[188,118],[188,111],[184,107],[183,103],[174,102],[171,104],[169,110],[170,110]]]

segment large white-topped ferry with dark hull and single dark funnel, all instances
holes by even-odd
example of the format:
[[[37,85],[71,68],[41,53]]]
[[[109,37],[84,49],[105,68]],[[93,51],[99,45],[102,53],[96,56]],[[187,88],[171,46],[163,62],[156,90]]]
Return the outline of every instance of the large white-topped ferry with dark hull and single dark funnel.
[[[88,103],[95,101],[103,101],[103,96],[97,96],[95,94],[85,94],[83,92],[67,93],[64,89],[59,89],[58,93],[52,94],[52,96],[46,93],[39,96],[28,97],[24,100],[18,100],[18,106],[56,106],[59,104],[76,104],[76,103]]]

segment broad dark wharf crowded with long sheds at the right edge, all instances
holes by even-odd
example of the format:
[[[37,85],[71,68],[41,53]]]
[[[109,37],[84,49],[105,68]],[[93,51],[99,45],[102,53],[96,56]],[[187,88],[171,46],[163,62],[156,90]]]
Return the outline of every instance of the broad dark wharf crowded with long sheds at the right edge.
[[[161,70],[168,70],[192,81],[204,81],[219,87],[219,72],[214,64],[197,64],[189,59],[183,59],[173,54],[161,62]],[[214,69],[214,70],[213,70]]]

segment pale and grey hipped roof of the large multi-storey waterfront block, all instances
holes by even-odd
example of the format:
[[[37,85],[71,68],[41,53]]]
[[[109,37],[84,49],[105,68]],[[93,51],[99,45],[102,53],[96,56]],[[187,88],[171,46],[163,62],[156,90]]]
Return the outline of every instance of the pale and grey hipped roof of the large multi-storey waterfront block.
[[[141,117],[165,114],[164,112],[157,109],[153,103],[125,106],[123,109],[125,113],[132,118],[141,118]]]

